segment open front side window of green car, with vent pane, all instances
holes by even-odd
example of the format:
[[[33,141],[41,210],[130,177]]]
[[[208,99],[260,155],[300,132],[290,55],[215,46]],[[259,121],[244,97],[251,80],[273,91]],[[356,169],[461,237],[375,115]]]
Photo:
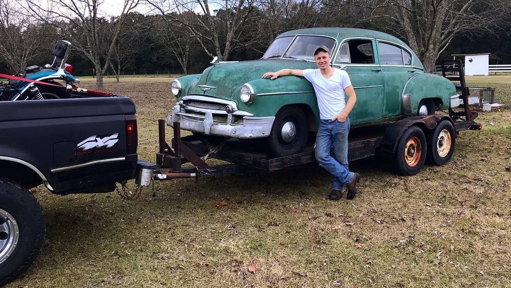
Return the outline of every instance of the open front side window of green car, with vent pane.
[[[336,63],[361,63],[373,64],[373,41],[366,39],[348,40],[342,43],[337,56]]]

